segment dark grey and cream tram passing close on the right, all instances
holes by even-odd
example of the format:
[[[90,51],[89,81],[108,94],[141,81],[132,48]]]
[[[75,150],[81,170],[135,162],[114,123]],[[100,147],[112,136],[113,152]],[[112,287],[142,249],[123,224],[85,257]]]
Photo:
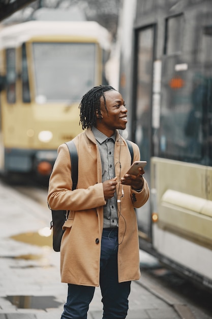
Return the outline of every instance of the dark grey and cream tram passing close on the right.
[[[124,0],[119,91],[125,136],[147,161],[140,248],[212,288],[212,6]]]

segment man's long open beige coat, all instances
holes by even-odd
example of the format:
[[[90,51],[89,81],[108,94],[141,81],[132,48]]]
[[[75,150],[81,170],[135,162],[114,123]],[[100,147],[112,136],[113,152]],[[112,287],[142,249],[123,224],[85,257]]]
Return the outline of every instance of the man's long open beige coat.
[[[78,184],[72,191],[71,161],[66,144],[58,148],[58,156],[49,181],[48,203],[52,209],[70,210],[60,247],[62,282],[99,286],[103,205],[105,205],[101,158],[92,130],[74,138],[77,147]],[[139,148],[133,143],[134,161],[140,160]],[[120,180],[131,165],[126,141],[116,132],[114,147],[115,175]],[[118,219],[118,281],[137,280],[139,270],[138,228],[134,207],[142,206],[149,197],[148,185],[140,193],[124,185],[124,197],[117,203]],[[117,184],[117,199],[122,184]]]

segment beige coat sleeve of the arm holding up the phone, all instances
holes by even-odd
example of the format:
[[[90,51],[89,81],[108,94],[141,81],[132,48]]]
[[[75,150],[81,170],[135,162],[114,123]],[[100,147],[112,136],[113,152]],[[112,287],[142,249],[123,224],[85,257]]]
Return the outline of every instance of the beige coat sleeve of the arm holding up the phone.
[[[134,162],[140,161],[140,151],[139,147],[133,143],[133,150],[134,150]],[[139,208],[143,206],[149,198],[149,188],[147,181],[143,177],[143,188],[140,192],[136,192],[134,189],[131,188],[131,199],[133,202],[133,207]]]

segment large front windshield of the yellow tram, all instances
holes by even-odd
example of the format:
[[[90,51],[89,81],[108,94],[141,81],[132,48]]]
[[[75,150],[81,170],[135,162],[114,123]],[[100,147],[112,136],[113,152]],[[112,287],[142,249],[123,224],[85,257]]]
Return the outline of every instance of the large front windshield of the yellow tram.
[[[33,43],[36,102],[79,101],[95,85],[95,43]]]

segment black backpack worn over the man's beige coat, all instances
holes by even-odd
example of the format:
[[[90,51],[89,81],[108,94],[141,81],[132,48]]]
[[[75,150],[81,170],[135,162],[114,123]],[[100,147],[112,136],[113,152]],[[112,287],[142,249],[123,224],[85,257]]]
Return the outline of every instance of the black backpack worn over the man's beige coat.
[[[130,141],[126,140],[130,154],[131,154],[131,165],[133,163],[133,147]],[[76,146],[73,141],[69,141],[66,143],[70,157],[71,157],[71,176],[73,181],[72,191],[76,189],[77,187],[77,181],[78,181],[78,153]],[[51,208],[50,208],[51,209]],[[50,224],[50,229],[52,229],[53,233],[53,250],[54,251],[60,251],[60,243],[64,234],[63,225],[65,221],[68,218],[69,211],[67,210],[53,210],[51,209],[51,215],[52,215],[52,221]]]

